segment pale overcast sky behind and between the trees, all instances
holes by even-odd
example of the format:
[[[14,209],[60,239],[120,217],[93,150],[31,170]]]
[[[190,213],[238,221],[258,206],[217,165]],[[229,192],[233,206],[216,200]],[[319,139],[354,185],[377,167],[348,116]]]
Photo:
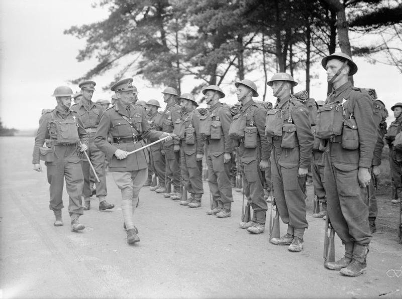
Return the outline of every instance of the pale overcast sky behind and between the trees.
[[[82,76],[96,61],[78,63],[75,57],[85,41],[64,35],[63,31],[73,25],[101,21],[108,16],[104,9],[94,9],[94,0],[2,0],[1,6],[1,102],[0,111],[4,125],[18,129],[32,129],[38,125],[42,108],[53,108],[56,103],[50,95],[59,85],[69,85],[73,91],[78,86],[68,83],[69,79]],[[354,40],[353,43],[358,41]],[[402,45],[400,46],[402,48]],[[364,59],[354,59],[359,71],[354,76],[355,86],[375,88],[379,99],[388,110],[393,103],[402,102],[402,74],[395,67],[381,64],[372,65]],[[312,80],[311,96],[325,100],[325,70],[317,65],[313,68],[319,75]],[[104,76],[92,78],[97,83],[93,100],[110,99],[111,92],[103,92],[101,87],[113,80],[113,71]],[[273,74],[268,74],[268,77]],[[247,75],[246,75],[247,77]],[[262,74],[249,74],[249,79],[258,80],[260,94],[263,93]],[[304,80],[303,74],[296,80]],[[152,88],[149,82],[135,78],[134,84],[140,98],[158,99],[162,106],[161,88]],[[188,78],[182,92],[189,92],[194,86]],[[224,100],[234,103],[234,86],[223,85],[228,97]],[[304,88],[304,82],[295,91]],[[267,100],[274,102],[272,91],[268,90]],[[197,99],[200,95],[195,95]],[[390,111],[391,112],[391,111]],[[393,119],[390,113],[390,120]]]

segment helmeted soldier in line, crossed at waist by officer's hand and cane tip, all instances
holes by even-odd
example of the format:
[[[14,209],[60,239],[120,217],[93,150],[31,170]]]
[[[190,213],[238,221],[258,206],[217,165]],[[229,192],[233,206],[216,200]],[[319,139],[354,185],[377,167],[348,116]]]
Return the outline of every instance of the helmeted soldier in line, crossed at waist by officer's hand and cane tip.
[[[166,103],[165,111],[163,111],[162,118],[162,131],[171,133],[174,129],[174,123],[177,119],[181,117],[181,107],[176,104],[176,99],[178,97],[177,91],[173,87],[166,87],[163,91],[163,100]],[[180,192],[180,145],[179,140],[171,140],[165,142],[164,154],[166,158],[166,176],[172,178],[173,180],[173,192],[168,194],[165,193],[164,196],[171,200],[179,200]],[[170,184],[170,180],[166,182]]]

